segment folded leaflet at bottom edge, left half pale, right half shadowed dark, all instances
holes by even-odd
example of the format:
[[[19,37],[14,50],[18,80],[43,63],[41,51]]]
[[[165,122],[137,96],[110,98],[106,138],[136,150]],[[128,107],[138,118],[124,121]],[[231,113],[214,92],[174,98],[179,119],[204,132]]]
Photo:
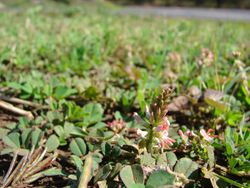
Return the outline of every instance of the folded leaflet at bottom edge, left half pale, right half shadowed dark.
[[[136,183],[144,183],[144,174],[140,165],[125,166],[121,172],[120,177],[126,187],[130,187]]]

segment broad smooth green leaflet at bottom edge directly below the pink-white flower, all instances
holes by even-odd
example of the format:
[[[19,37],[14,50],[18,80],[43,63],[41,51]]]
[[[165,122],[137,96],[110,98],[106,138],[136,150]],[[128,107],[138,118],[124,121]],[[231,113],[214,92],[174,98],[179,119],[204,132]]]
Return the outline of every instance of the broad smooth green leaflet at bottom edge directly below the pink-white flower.
[[[166,185],[173,185],[175,177],[167,173],[165,170],[158,170],[153,172],[147,181],[147,187],[159,188]]]

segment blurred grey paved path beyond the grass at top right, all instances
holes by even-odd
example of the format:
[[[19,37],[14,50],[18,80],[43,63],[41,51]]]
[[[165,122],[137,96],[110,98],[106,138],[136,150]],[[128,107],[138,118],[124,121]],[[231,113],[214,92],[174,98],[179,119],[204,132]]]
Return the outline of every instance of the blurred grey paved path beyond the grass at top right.
[[[195,18],[195,19],[250,21],[250,10],[241,10],[241,9],[128,6],[119,10],[118,13],[132,14],[132,15],[156,15],[156,16],[166,16],[166,17]]]

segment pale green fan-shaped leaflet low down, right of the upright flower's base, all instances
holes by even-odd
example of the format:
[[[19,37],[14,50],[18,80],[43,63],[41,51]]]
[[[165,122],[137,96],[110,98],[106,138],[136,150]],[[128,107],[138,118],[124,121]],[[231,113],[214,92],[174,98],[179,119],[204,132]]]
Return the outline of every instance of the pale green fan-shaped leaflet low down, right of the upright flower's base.
[[[193,162],[189,158],[181,158],[175,168],[174,171],[178,173],[183,173],[187,178],[192,177],[193,173],[199,168],[196,162]]]

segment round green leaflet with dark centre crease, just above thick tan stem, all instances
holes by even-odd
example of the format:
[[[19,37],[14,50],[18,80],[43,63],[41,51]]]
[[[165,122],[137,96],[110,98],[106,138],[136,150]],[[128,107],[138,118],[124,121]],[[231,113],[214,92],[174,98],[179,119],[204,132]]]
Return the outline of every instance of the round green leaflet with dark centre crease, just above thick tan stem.
[[[82,138],[72,139],[69,147],[71,152],[77,156],[82,156],[86,154],[86,144]]]

